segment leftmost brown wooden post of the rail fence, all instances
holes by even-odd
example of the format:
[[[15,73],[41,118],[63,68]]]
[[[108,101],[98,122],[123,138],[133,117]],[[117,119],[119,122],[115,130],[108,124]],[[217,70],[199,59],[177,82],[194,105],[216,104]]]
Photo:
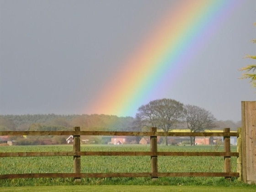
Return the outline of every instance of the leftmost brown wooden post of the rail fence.
[[[74,127],[74,131],[80,131],[80,127]],[[81,156],[77,155],[77,152],[80,152],[80,135],[73,136],[73,151],[74,155],[74,173],[81,173]],[[75,177],[75,182],[80,182],[80,177]]]

